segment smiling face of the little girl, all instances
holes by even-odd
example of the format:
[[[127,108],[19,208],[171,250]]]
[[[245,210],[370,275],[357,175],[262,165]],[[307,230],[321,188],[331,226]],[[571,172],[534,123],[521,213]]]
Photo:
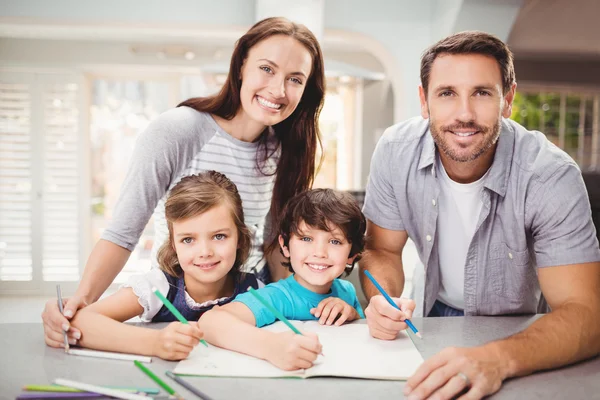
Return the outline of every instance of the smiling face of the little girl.
[[[225,279],[235,263],[238,231],[231,209],[218,205],[203,214],[173,222],[173,242],[188,280],[211,284]]]

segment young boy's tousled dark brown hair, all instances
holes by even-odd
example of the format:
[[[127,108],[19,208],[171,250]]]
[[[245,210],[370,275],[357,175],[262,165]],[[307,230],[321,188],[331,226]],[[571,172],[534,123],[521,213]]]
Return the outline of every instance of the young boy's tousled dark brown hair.
[[[354,197],[350,193],[332,189],[308,190],[293,197],[285,206],[279,223],[279,234],[285,246],[289,247],[292,235],[301,233],[299,228],[303,221],[323,231],[330,232],[331,225],[342,231],[352,244],[348,257],[356,255],[352,265],[346,268],[345,274],[349,274],[365,248],[367,227],[365,216]],[[289,261],[282,264],[294,272]]]

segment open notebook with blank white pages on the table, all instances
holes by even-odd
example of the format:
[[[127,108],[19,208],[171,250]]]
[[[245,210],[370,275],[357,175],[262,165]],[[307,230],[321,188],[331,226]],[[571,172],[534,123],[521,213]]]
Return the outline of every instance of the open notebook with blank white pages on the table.
[[[405,332],[396,340],[371,337],[366,324],[323,326],[317,321],[292,321],[301,331],[317,333],[325,357],[319,356],[307,370],[283,371],[271,363],[215,346],[196,346],[189,357],[173,371],[179,375],[246,378],[310,378],[339,376],[363,379],[406,380],[423,362],[421,354]],[[265,327],[272,331],[288,330],[277,322]]]

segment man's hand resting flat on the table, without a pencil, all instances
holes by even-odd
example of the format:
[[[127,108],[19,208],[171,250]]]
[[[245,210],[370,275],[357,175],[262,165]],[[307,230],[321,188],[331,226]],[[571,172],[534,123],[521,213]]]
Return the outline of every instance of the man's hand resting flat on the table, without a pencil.
[[[404,395],[409,400],[481,399],[500,389],[507,371],[506,362],[488,346],[449,347],[419,367]]]

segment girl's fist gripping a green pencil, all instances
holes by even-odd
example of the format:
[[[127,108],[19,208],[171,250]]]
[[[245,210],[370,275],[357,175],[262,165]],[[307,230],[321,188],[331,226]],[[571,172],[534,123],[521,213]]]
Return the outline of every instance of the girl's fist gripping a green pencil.
[[[171,322],[156,335],[152,354],[163,360],[183,360],[203,337],[195,323]]]

